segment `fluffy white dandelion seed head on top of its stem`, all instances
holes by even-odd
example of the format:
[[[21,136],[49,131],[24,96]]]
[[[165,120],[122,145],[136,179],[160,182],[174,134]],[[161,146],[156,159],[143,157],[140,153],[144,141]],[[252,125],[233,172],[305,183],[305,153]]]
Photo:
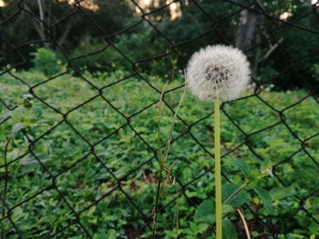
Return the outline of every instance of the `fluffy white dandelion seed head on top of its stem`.
[[[251,71],[242,51],[232,46],[209,45],[190,57],[186,85],[204,101],[231,101],[249,84]]]

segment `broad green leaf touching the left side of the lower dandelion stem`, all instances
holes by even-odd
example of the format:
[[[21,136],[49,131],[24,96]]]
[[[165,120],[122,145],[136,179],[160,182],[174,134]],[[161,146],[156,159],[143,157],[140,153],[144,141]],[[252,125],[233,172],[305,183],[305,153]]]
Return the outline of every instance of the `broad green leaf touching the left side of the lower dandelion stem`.
[[[215,222],[215,204],[213,199],[203,201],[196,209],[196,222],[212,223]]]

